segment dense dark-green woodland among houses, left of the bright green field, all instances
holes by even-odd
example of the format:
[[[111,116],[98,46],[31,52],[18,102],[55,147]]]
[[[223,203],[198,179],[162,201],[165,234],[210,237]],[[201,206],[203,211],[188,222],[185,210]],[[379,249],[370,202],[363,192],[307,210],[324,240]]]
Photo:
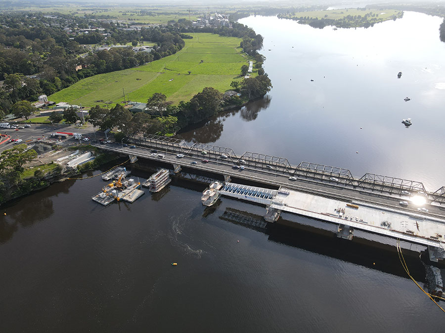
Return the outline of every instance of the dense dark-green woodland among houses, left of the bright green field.
[[[101,26],[105,31],[94,30]],[[80,33],[79,29],[86,28],[93,29],[88,34]],[[67,35],[67,29],[77,34],[74,40]],[[109,35],[106,40],[102,33]],[[0,88],[0,110],[10,111],[11,105],[18,101],[35,101],[41,94],[50,95],[85,77],[132,68],[171,55],[184,46],[182,35],[187,36],[173,26],[128,31],[114,23],[72,15],[45,17],[41,13],[3,12],[0,14],[0,80],[4,79],[5,83]],[[132,40],[133,45],[137,45],[138,40],[151,40],[156,45],[151,52],[134,52],[131,47],[88,52],[89,49],[81,45],[125,44],[127,40]],[[79,57],[82,53],[84,56]]]

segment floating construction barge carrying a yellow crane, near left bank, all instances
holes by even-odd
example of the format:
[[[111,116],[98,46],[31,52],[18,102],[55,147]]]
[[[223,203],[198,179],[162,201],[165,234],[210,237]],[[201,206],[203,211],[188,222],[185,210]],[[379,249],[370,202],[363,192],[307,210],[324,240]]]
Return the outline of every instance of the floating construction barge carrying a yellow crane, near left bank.
[[[102,191],[94,195],[91,199],[103,206],[107,206],[114,200],[134,202],[137,198],[144,194],[144,191],[140,190],[140,182],[136,182],[134,179],[123,181],[125,175],[127,174],[126,170],[123,171],[124,172],[121,172],[121,176],[117,181],[113,181],[112,183],[104,186]]]

